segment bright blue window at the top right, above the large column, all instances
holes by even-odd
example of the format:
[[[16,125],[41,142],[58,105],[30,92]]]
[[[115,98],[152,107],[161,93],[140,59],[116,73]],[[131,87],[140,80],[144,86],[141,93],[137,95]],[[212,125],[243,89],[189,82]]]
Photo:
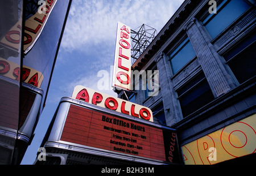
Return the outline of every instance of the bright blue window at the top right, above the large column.
[[[210,14],[203,21],[205,28],[209,32],[212,38],[217,37],[225,28],[234,22],[239,16],[243,14],[250,5],[243,0],[232,0],[228,3],[227,0],[222,1],[220,5],[217,5],[217,13]]]

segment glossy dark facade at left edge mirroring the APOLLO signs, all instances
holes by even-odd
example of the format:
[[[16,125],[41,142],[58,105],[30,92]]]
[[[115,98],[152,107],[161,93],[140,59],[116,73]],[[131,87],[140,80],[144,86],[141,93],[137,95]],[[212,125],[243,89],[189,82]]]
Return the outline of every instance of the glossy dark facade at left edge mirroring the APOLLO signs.
[[[33,139],[70,6],[1,1],[0,164],[19,164]]]

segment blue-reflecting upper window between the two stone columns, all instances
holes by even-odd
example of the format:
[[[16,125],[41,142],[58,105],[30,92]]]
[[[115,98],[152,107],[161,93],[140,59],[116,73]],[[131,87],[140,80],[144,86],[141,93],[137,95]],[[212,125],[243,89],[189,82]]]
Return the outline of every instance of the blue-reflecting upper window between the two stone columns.
[[[173,74],[176,74],[184,65],[196,56],[191,42],[186,38],[177,48],[170,54],[170,62]]]

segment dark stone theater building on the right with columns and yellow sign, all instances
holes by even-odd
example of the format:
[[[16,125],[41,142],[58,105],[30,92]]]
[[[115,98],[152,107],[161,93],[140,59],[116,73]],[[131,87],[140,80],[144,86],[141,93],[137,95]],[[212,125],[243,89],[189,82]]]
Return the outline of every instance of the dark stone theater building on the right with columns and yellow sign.
[[[177,130],[184,164],[255,158],[255,15],[255,1],[184,1],[133,64],[140,88],[116,90]]]

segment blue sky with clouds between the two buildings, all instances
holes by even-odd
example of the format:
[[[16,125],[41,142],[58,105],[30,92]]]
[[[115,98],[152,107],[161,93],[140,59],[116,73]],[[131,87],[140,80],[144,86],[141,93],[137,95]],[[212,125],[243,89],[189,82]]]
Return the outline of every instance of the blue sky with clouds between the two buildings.
[[[71,97],[76,85],[117,96],[110,88],[99,90],[100,70],[109,73],[114,63],[117,23],[136,29],[142,24],[158,32],[184,0],[73,0],[49,87],[46,108],[22,164],[32,164],[61,97]]]

